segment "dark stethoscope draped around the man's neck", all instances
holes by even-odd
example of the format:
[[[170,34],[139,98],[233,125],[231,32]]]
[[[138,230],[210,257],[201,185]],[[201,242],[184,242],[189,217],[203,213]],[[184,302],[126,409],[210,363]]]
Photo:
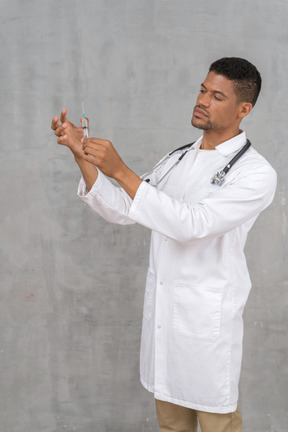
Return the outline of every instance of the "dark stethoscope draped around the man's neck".
[[[144,176],[142,177],[142,180],[145,180],[147,183],[149,183],[150,179],[146,178],[146,177],[149,177],[155,170],[157,170],[161,166],[163,166],[174,153],[176,153],[178,151],[185,150],[180,155],[180,157],[176,160],[176,162],[169,168],[169,170],[166,171],[166,173],[154,185],[155,187],[157,187],[159,185],[159,183],[161,183],[164,180],[164,178],[166,178],[168,176],[168,174],[170,174],[170,172],[181,162],[181,160],[184,158],[184,156],[187,154],[187,152],[189,150],[191,150],[191,148],[192,148],[193,144],[195,144],[195,142],[196,141],[194,141],[193,143],[190,143],[190,144],[185,144],[184,146],[179,147],[176,150],[173,150],[172,152],[168,153],[168,155],[166,157],[164,157],[164,159],[162,159],[160,162],[158,162],[157,165],[154,166],[153,170],[144,174]],[[246,144],[242,147],[242,149],[233,157],[233,159],[231,159],[231,161],[221,171],[216,172],[216,174],[210,180],[210,183],[215,184],[216,186],[222,186],[222,184],[225,180],[225,176],[228,173],[228,171],[240,159],[240,157],[243,156],[244,153],[246,153],[246,151],[249,149],[250,146],[251,146],[251,142],[247,139]]]

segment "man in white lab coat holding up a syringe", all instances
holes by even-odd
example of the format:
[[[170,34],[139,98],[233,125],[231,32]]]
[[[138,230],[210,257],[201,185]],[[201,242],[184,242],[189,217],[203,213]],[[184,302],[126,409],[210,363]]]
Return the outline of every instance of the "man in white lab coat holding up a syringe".
[[[198,422],[202,432],[241,430],[242,313],[251,286],[243,248],[276,187],[275,171],[239,128],[260,88],[247,60],[212,63],[191,121],[203,135],[144,179],[111,142],[80,143],[66,110],[62,124],[52,120],[82,171],[79,196],[109,222],[152,230],[140,372],[162,432],[194,432]]]

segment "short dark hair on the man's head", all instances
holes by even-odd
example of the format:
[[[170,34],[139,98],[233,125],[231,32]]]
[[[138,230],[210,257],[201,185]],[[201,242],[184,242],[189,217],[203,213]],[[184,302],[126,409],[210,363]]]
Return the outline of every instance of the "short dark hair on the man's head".
[[[255,105],[262,79],[259,71],[248,60],[239,57],[223,57],[211,64],[209,72],[215,72],[234,81],[238,101]]]

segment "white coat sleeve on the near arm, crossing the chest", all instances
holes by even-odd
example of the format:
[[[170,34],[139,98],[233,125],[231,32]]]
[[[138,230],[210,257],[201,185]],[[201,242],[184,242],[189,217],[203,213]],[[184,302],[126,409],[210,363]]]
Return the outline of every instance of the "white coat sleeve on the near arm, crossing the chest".
[[[143,182],[129,217],[182,243],[218,237],[242,225],[267,207],[276,189],[276,173],[269,164],[240,173],[196,205],[181,203]]]

